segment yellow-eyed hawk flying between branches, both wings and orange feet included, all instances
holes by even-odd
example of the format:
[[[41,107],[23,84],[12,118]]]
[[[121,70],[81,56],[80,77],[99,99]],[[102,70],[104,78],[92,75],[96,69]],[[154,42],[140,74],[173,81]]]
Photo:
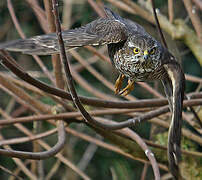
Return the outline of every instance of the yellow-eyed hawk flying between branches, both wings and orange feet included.
[[[134,89],[135,82],[162,81],[173,113],[169,130],[168,159],[171,173],[177,179],[184,97],[183,71],[167,48],[141,25],[121,17],[107,7],[104,10],[105,17],[62,32],[65,50],[86,45],[107,45],[111,63],[119,72],[115,82],[115,94],[128,95]],[[56,33],[2,43],[0,49],[32,55],[51,55],[60,52]],[[172,71],[171,67],[177,71]],[[175,76],[182,82],[179,83]],[[128,84],[121,89],[124,78],[128,79]]]

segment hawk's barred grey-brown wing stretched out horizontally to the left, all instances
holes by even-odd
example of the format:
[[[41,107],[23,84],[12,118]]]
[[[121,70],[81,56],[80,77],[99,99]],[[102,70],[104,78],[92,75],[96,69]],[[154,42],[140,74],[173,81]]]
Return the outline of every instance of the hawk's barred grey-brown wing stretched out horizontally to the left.
[[[118,43],[127,39],[127,27],[120,16],[105,9],[106,18],[99,18],[77,29],[62,32],[66,50],[85,45]],[[59,53],[56,33],[34,36],[0,44],[0,49],[25,54],[49,55]]]

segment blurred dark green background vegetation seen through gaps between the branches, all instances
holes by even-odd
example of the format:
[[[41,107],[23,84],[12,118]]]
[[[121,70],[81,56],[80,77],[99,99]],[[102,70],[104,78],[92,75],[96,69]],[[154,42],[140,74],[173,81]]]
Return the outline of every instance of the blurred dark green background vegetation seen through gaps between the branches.
[[[34,0],[33,0],[34,1]],[[59,9],[60,9],[60,17],[62,19],[63,28],[76,28],[81,25],[84,25],[88,22],[91,22],[92,20],[96,19],[98,17],[98,14],[95,12],[95,10],[92,8],[92,6],[89,4],[89,1],[87,0],[67,0],[68,2],[65,3],[65,0],[59,1]],[[114,11],[118,12],[122,17],[129,18],[133,21],[138,22],[142,26],[145,27],[145,29],[155,36],[155,38],[158,38],[158,33],[156,30],[155,25],[151,24],[147,20],[145,20],[143,17],[139,15],[134,15],[129,12],[124,11],[123,9],[116,7],[113,3],[110,3],[110,1],[101,1],[97,0],[94,1],[99,6],[104,4],[110,8],[112,8]],[[112,1],[111,1],[112,2]],[[134,1],[137,3],[137,1]],[[160,10],[160,12],[168,17],[168,2],[167,1],[161,1],[156,0],[156,6]],[[44,8],[43,1],[38,0],[39,5]],[[44,34],[43,29],[41,28],[36,15],[33,11],[33,9],[30,7],[30,4],[26,0],[12,0],[13,8],[15,10],[16,17],[18,18],[18,21],[20,23],[20,26],[25,33],[26,37],[31,37],[34,35],[40,35]],[[194,5],[194,10],[199,13],[199,17],[201,17],[201,11],[197,7],[197,5]],[[182,19],[185,21],[185,23],[194,30],[194,27],[192,26],[191,20],[189,15],[187,14],[186,8],[184,7],[182,0],[176,0],[174,1],[174,15],[175,19]],[[48,27],[48,26],[47,26]],[[201,78],[202,75],[202,69],[199,60],[194,56],[192,50],[184,43],[183,40],[174,40],[170,34],[165,33],[166,40],[169,45],[169,49],[173,54],[181,61],[181,64],[183,66],[184,72],[189,75],[193,75],[195,77]],[[16,31],[16,28],[12,22],[10,13],[7,8],[7,1],[1,0],[0,1],[0,42],[6,42],[9,40],[19,39],[21,38]],[[106,47],[99,47],[97,48],[102,54],[107,55]],[[93,53],[85,48],[80,48],[76,50],[81,57],[84,59],[89,59],[93,56]],[[201,53],[202,54],[202,53]],[[40,80],[42,80],[45,83],[51,84],[50,79],[47,78],[46,75],[44,75],[43,71],[39,67],[39,65],[36,63],[36,61],[33,59],[32,56],[24,55],[21,53],[11,53],[11,55],[15,58],[15,60],[20,64],[23,69],[25,69],[27,72],[31,73],[33,77],[36,77]],[[50,60],[50,56],[41,57],[42,62],[45,64],[47,69],[50,72],[53,72],[52,67],[52,61]],[[78,74],[80,77],[82,77],[85,81],[87,81],[90,86],[92,86],[95,90],[98,90],[99,92],[103,92],[105,95],[110,96],[113,98],[119,98],[123,99],[122,97],[117,97],[114,95],[113,91],[107,88],[103,85],[102,81],[99,81],[95,78],[94,75],[92,75],[88,70],[80,66],[79,62],[74,58],[70,57],[71,64],[74,67],[78,67]],[[102,60],[96,60],[94,63],[91,64],[91,66],[98,71],[100,74],[102,74],[108,81],[111,83],[114,83],[118,72],[113,68],[113,66],[109,65],[109,63],[106,63]],[[14,77],[9,71],[7,71],[3,66],[0,66],[0,71],[5,76],[8,77]],[[201,81],[201,79],[200,79]],[[76,89],[79,95],[85,95],[85,96],[92,96],[96,97],[95,94],[93,94],[91,91],[89,91],[85,86],[79,84],[78,81],[75,81]],[[162,85],[159,82],[151,82],[148,83],[150,87],[157,90],[160,94],[164,95]],[[201,83],[193,82],[193,81],[186,81],[186,93],[200,91],[201,90]],[[93,90],[92,90],[93,91]],[[31,91],[26,90],[26,92],[36,98],[37,100],[42,101],[44,104],[54,106],[57,103],[52,100],[48,96],[39,97],[38,95],[34,94]],[[155,97],[154,94],[148,93],[146,89],[144,89],[141,84],[135,85],[135,90],[131,94],[133,97],[138,99],[147,99]],[[3,88],[2,85],[0,86],[0,108],[5,111],[7,114],[13,117],[23,117],[23,116],[29,116],[32,115],[33,112],[30,111],[28,108],[20,104],[18,101],[16,101],[15,97],[8,94]],[[99,97],[101,98],[101,97]],[[94,110],[95,108],[86,106],[88,110]],[[192,114],[189,112],[186,112],[187,116],[191,119]],[[129,116],[126,114],[122,115],[104,115],[102,116],[104,118],[113,119],[116,121],[123,121],[126,120]],[[5,117],[2,116],[2,119]],[[163,119],[169,119],[169,118],[163,118]],[[28,128],[30,131],[34,131],[34,127],[32,123],[25,123],[24,126]],[[184,126],[188,129],[190,129],[193,133],[196,133],[198,136],[200,136],[199,132],[196,131],[193,127],[190,127],[189,124],[184,123]],[[43,122],[43,125],[40,129],[40,132],[47,131],[52,129],[54,126],[50,125],[47,122]],[[72,123],[70,124],[70,127],[78,132],[82,132],[84,134],[87,134],[91,137],[94,137],[96,139],[99,139],[101,141],[105,141],[107,143],[110,143],[109,140],[103,139],[100,135],[97,135],[97,133],[92,130],[91,128],[88,128],[84,124],[77,124]],[[16,138],[16,137],[22,137],[24,136],[24,133],[21,132],[19,129],[17,129],[14,126],[3,126],[0,127],[0,135],[1,139],[10,139],[10,138]],[[162,144],[166,144],[166,140],[164,137],[164,132],[167,132],[165,128],[151,125],[151,123],[146,122],[143,124],[140,124],[136,126],[135,128],[132,128],[135,130],[142,138],[145,139],[152,139],[158,143],[162,140]],[[156,136],[156,134],[160,134],[159,136]],[[144,164],[138,161],[131,160],[129,158],[126,158],[120,154],[117,154],[115,152],[112,152],[110,150],[107,150],[105,148],[99,147],[95,145],[94,143],[91,143],[89,141],[85,141],[82,138],[79,138],[78,136],[74,136],[72,134],[67,133],[67,143],[65,145],[65,148],[62,151],[62,154],[64,157],[69,159],[71,162],[73,162],[75,165],[77,165],[78,168],[83,170],[89,177],[92,179],[140,179],[141,176],[143,176],[142,171]],[[50,145],[54,145],[56,142],[56,135],[52,135],[50,137],[43,138],[44,141],[48,142]],[[186,141],[186,140],[185,140]],[[187,148],[193,148],[194,151],[201,151],[201,146],[193,141],[188,141],[185,143],[187,144]],[[33,151],[33,143],[27,142],[23,144],[16,144],[11,145],[13,149],[17,150],[23,150],[23,151]],[[165,153],[166,156],[166,153]],[[86,158],[86,159],[85,159]],[[202,160],[199,159],[202,164]],[[22,160],[24,165],[33,173],[36,175],[36,177],[40,177],[41,179],[48,179],[47,175],[48,173],[53,169],[53,167],[56,168],[55,173],[51,175],[50,179],[80,179],[80,177],[74,173],[70,168],[68,168],[66,165],[61,163],[57,158],[49,158],[47,160],[43,160],[41,162],[40,169],[41,170],[35,170],[33,168],[33,161],[30,160]],[[200,164],[200,163],[199,163]],[[199,165],[197,164],[197,165]],[[198,169],[202,168],[202,165],[200,164]],[[23,179],[30,179],[25,173],[20,171],[17,173],[18,168],[20,167],[16,162],[13,160],[13,158],[10,157],[4,157],[0,155],[0,165],[4,166],[5,168],[8,168],[13,173],[19,175]],[[193,164],[192,164],[193,165]],[[37,168],[36,168],[37,169]],[[41,171],[41,174],[40,174]],[[199,170],[196,172],[196,179],[202,178],[199,174]],[[162,174],[165,174],[166,171],[161,171]],[[148,166],[147,173],[145,176],[145,179],[151,179],[153,178],[152,169],[150,166]],[[191,177],[191,175],[190,175]],[[193,176],[192,176],[193,177]],[[3,170],[0,170],[0,179],[12,179],[13,176],[10,176],[8,173],[6,173]]]

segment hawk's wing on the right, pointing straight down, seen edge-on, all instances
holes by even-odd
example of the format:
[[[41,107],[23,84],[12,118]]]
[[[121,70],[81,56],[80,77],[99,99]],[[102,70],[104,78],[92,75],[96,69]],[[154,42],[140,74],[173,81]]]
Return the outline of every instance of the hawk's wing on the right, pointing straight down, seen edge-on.
[[[172,120],[168,133],[168,161],[173,178],[179,179],[181,178],[179,165],[181,161],[180,147],[185,78],[177,61],[165,64],[164,68],[167,71],[168,77],[162,80],[162,82],[172,112]]]

